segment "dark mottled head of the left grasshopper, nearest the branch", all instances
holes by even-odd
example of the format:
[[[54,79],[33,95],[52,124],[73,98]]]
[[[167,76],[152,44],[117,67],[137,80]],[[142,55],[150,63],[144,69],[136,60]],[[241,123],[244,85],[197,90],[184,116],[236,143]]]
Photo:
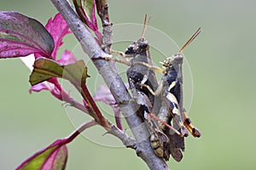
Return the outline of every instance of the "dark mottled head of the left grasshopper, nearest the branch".
[[[135,54],[146,54],[148,48],[148,41],[145,38],[140,38],[136,42],[131,43],[131,45],[126,48],[125,54],[128,57],[132,57]]]

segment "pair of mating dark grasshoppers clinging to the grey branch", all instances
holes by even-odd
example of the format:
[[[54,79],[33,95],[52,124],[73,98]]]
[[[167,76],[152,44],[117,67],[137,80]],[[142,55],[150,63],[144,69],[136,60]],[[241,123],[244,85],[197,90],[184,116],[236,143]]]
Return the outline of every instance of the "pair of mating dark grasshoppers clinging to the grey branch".
[[[172,155],[176,161],[181,161],[183,158],[181,151],[185,148],[184,137],[189,133],[194,137],[201,136],[183,108],[183,55],[181,54],[201,32],[201,28],[189,38],[177,54],[166,58],[162,63],[165,67],[163,70],[152,65],[148,41],[144,38],[147,25],[146,15],[142,37],[133,42],[126,49],[125,54],[119,52],[125,60],[116,58],[113,60],[130,66],[126,75],[133,99],[139,105],[140,116],[151,135],[150,141],[154,153],[165,160],[169,160]],[[127,61],[127,58],[131,60]],[[159,84],[154,71],[163,73]]]

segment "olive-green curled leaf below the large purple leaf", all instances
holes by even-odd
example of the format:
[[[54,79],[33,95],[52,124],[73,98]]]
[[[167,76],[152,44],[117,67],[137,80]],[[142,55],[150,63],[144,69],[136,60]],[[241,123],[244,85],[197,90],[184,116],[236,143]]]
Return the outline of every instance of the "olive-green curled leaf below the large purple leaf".
[[[29,82],[33,86],[52,77],[64,78],[79,87],[81,83],[86,82],[86,78],[89,76],[83,60],[69,65],[59,65],[54,60],[40,58],[34,63]]]

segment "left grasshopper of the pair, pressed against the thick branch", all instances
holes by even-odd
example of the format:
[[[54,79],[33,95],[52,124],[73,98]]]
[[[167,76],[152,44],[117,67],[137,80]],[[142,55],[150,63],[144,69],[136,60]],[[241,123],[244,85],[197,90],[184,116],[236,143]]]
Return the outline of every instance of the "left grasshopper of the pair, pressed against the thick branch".
[[[141,117],[148,127],[150,133],[151,146],[154,149],[154,153],[157,156],[163,157],[164,143],[168,142],[168,137],[157,126],[155,120],[149,121],[150,116],[154,116],[153,113],[158,113],[161,106],[161,96],[155,96],[148,88],[156,90],[158,82],[156,80],[154,71],[145,65],[134,65],[137,62],[147,63],[152,65],[152,60],[149,54],[148,41],[144,38],[144,32],[147,26],[147,15],[145,16],[143,24],[143,34],[136,42],[126,49],[125,56],[131,58],[130,67],[126,71],[126,76],[131,88],[133,99],[140,105]],[[144,88],[139,84],[145,84],[148,88]],[[154,116],[157,118],[157,116]],[[146,121],[145,121],[146,120]],[[174,144],[173,144],[174,145]]]

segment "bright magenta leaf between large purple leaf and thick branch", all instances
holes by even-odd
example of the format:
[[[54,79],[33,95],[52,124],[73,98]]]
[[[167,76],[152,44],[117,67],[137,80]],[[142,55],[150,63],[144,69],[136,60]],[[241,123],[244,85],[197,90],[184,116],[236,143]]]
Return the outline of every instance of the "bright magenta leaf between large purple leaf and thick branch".
[[[71,33],[71,31],[68,31],[67,23],[62,18],[61,14],[56,14],[53,20],[49,19],[45,28],[49,31],[51,36],[54,38],[55,48],[52,53],[52,57],[56,59],[58,49],[61,47],[63,43],[62,38],[65,37],[67,34]]]

